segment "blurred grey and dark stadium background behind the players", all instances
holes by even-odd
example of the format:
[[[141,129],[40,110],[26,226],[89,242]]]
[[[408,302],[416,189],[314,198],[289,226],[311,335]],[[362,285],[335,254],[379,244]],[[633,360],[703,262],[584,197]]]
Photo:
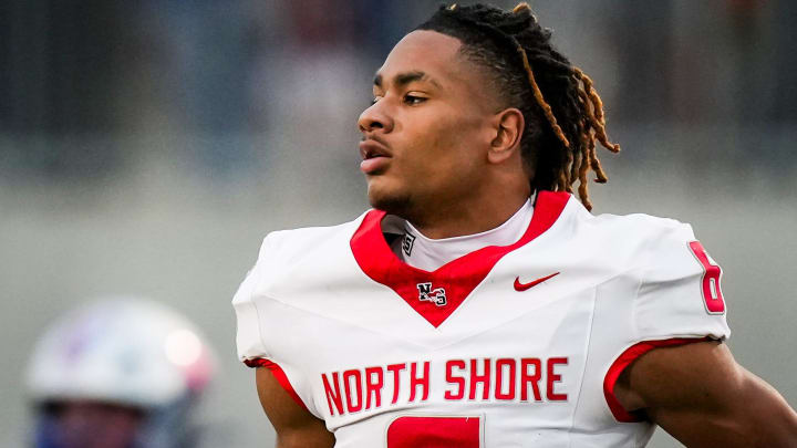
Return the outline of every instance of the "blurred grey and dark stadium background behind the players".
[[[43,329],[113,294],[177,309],[219,354],[208,446],[272,446],[229,302],[268,231],[368,207],[356,117],[437,4],[0,1],[1,446],[27,446]],[[531,4],[623,147],[593,212],[691,222],[725,271],[734,354],[796,406],[797,2]]]

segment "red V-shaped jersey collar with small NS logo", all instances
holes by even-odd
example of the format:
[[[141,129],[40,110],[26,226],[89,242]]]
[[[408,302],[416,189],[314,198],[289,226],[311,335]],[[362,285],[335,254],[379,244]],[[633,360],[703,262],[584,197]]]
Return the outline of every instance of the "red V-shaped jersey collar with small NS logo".
[[[568,192],[539,191],[531,222],[518,241],[509,246],[482,248],[432,272],[413,268],[393,253],[382,235],[384,211],[369,211],[350,244],[354,259],[368,277],[395,291],[429,324],[438,327],[482,283],[501,257],[548,230],[557,221],[569,199]],[[427,283],[427,292],[434,291],[434,294],[438,294],[437,291],[443,291],[444,300],[421,300],[422,283]],[[511,283],[508,286],[511,286]]]

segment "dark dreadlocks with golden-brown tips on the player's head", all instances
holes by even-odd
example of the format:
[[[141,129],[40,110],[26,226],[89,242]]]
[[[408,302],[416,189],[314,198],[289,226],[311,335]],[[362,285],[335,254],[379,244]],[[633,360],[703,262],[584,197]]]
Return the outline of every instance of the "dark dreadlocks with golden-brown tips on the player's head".
[[[488,82],[506,107],[524,115],[520,138],[524,163],[532,173],[531,192],[578,194],[588,210],[587,175],[608,180],[596,154],[596,140],[612,153],[600,96],[592,80],[553,49],[551,31],[540,27],[528,3],[513,11],[485,4],[442,6],[416,30],[436,31],[462,42],[460,52],[486,71]]]

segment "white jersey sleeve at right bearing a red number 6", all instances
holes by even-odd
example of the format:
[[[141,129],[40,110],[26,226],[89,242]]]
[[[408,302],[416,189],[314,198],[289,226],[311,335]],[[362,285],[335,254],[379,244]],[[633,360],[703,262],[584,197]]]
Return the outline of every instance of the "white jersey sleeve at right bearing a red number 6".
[[[633,310],[638,341],[731,335],[722,269],[689,225],[673,223],[653,238],[645,260]]]

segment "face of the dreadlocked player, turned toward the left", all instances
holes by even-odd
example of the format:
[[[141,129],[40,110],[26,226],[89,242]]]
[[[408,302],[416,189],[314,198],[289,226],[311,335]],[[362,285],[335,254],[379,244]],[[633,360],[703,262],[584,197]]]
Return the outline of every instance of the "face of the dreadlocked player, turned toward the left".
[[[460,42],[414,31],[374,79],[374,104],[358,122],[360,166],[375,208],[405,218],[452,207],[484,180],[497,105]]]

